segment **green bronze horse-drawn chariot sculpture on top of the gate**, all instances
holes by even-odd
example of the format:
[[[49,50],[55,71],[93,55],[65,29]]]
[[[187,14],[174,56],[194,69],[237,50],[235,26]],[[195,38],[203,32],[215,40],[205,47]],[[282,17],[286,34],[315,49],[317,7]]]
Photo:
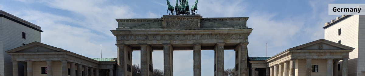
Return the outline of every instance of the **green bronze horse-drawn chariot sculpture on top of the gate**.
[[[174,10],[176,15],[181,15],[181,14],[185,14],[185,15],[189,15],[190,14],[190,10],[191,10],[191,14],[195,14],[195,11],[197,13],[197,4],[198,4],[198,0],[195,0],[195,4],[191,7],[191,9],[189,8],[189,4],[188,4],[188,0],[179,0],[180,4],[177,4],[177,0],[176,0],[176,5],[175,8],[173,6],[171,6],[170,1],[166,0],[166,3],[168,5],[167,7],[167,13],[170,13],[169,15],[174,15]]]

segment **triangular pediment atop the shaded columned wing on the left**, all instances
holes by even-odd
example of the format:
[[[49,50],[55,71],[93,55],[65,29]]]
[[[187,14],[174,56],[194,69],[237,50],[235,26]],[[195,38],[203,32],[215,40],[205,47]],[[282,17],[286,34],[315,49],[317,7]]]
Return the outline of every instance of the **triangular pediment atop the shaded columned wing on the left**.
[[[5,52],[66,52],[66,50],[40,42],[32,42]]]

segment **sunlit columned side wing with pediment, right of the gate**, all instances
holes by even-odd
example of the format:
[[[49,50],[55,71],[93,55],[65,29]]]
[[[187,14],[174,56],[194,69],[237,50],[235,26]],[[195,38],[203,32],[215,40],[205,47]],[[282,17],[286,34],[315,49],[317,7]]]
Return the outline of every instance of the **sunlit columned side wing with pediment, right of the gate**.
[[[337,74],[337,71],[333,71],[333,68],[337,68],[337,66],[334,66],[333,64],[337,64],[339,60],[343,60],[343,64],[347,64],[349,52],[353,50],[354,48],[349,46],[341,45],[325,39],[319,39],[289,48],[288,50],[280,52],[279,54],[265,60],[265,62],[267,62],[266,67],[274,67],[270,68],[270,70],[273,71],[270,74],[273,75],[283,75],[281,72],[284,71],[285,75],[310,76],[320,74],[325,75],[326,73],[327,76],[332,76]],[[283,69],[285,70],[281,69],[281,66],[284,66],[285,68]],[[342,75],[347,76],[347,65],[343,65],[343,67],[345,68],[342,68]],[[290,68],[290,70],[288,68]],[[325,68],[327,70],[318,71],[318,69]]]

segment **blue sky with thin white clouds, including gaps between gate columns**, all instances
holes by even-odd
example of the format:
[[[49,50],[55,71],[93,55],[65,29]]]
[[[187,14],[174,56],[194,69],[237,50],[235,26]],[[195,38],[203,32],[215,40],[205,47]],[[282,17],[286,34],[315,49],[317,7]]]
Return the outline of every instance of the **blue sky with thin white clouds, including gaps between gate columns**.
[[[190,0],[193,4],[195,0]],[[175,5],[175,0],[170,0]],[[356,4],[365,0],[199,0],[203,17],[249,17],[249,56],[276,55],[288,48],[324,38],[328,4]],[[87,56],[116,58],[115,18],[161,18],[166,0],[0,0],[0,10],[41,26],[42,43]],[[174,76],[192,76],[193,51],[174,51]],[[213,51],[202,51],[202,76],[213,76]],[[232,50],[224,51],[224,68],[234,67]],[[153,52],[153,67],[163,69],[162,51]],[[140,52],[132,52],[140,64]]]

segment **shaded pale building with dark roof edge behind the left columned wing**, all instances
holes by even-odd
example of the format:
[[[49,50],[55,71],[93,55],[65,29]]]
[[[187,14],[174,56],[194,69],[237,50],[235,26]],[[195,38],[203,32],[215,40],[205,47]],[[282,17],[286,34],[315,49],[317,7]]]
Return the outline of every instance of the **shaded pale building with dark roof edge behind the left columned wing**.
[[[0,10],[0,76],[13,74],[11,56],[5,51],[31,42],[41,42],[41,32],[41,27]],[[18,65],[19,69],[23,69],[22,63]]]

